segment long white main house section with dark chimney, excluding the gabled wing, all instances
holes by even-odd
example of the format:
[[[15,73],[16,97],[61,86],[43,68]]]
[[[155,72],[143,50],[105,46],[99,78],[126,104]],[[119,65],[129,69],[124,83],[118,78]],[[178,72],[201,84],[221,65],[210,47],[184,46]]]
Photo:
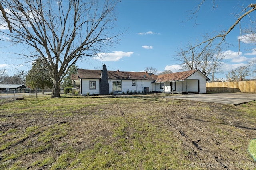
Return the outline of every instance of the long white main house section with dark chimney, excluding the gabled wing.
[[[129,92],[150,92],[157,76],[147,72],[108,71],[78,69],[72,75],[73,84],[80,84],[80,94],[120,94]]]

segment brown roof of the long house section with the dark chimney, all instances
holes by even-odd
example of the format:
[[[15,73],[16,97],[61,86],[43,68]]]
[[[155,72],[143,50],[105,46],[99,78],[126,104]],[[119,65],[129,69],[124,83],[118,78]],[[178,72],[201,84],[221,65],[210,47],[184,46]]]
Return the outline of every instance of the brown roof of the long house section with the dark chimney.
[[[78,69],[78,78],[101,79],[101,73],[102,70]],[[157,75],[150,75],[146,72],[108,71],[108,78],[116,80],[156,80]]]

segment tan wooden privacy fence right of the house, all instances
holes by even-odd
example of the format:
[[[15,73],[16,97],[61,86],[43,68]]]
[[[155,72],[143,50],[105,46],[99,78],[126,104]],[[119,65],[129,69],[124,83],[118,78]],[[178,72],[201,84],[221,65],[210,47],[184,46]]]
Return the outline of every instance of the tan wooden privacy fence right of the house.
[[[256,93],[256,81],[206,83],[206,92]]]

